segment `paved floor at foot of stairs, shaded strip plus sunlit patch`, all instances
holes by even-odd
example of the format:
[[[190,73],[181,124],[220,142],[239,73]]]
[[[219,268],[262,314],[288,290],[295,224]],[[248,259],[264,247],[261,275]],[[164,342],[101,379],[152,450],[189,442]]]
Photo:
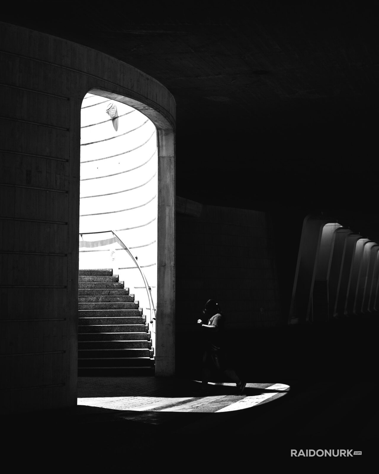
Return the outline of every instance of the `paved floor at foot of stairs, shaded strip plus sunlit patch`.
[[[238,394],[234,383],[209,383],[207,396],[199,396],[193,393],[199,390],[199,381],[161,381],[159,385],[158,379],[152,377],[81,377],[78,413],[81,407],[220,413],[275,401],[290,390],[289,385],[283,383],[247,383],[244,393]],[[112,396],[115,393],[118,396]]]

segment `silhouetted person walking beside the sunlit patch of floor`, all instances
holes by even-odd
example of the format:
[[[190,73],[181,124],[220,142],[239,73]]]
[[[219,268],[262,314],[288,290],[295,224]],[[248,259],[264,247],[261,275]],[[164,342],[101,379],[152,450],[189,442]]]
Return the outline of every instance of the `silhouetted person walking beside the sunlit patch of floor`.
[[[235,373],[234,369],[228,365],[224,353],[225,316],[220,311],[215,300],[208,300],[205,303],[203,314],[208,318],[208,323],[203,324],[203,321],[198,319],[198,324],[201,325],[205,336],[200,393],[208,393],[208,380],[211,367],[214,366],[218,371],[223,372],[230,380],[235,382],[237,392],[241,394],[244,391],[246,382],[243,382]]]

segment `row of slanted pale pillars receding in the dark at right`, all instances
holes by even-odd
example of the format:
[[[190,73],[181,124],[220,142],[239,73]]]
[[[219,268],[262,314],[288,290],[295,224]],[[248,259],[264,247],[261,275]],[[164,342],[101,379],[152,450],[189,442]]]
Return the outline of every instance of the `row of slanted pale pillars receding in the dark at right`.
[[[337,222],[304,219],[289,323],[378,311],[379,245]]]

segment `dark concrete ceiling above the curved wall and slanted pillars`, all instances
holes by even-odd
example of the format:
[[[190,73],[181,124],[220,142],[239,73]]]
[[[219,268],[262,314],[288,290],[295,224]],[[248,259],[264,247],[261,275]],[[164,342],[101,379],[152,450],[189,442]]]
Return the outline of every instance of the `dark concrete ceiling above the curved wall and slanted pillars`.
[[[38,2],[9,7],[1,20],[162,82],[177,103],[177,194],[340,213],[359,213],[364,202],[372,214],[379,46],[371,5]]]

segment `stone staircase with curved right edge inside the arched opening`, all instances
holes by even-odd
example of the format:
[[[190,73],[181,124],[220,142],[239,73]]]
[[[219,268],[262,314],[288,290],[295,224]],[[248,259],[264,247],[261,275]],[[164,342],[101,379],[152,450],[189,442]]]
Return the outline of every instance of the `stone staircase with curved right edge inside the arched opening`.
[[[78,375],[153,375],[151,333],[112,269],[79,270]]]

